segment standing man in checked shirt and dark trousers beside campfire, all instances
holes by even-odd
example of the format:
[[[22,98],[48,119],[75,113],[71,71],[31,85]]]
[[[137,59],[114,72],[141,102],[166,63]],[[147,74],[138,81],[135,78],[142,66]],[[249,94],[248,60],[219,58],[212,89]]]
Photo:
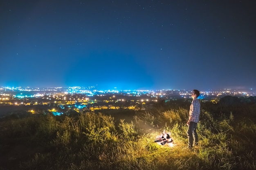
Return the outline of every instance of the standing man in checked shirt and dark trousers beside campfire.
[[[198,134],[196,133],[196,127],[200,116],[200,102],[198,100],[199,95],[200,92],[198,90],[193,90],[193,93],[191,95],[193,100],[189,109],[189,120],[188,122],[186,122],[186,124],[189,126],[187,131],[189,139],[189,149],[191,149],[193,145],[195,146],[198,144]]]

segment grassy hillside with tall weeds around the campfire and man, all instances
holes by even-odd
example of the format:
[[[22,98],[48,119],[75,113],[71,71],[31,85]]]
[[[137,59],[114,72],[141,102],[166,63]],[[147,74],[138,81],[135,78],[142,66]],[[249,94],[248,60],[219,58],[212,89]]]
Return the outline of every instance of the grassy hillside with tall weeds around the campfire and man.
[[[199,145],[188,150],[191,100],[144,111],[106,110],[0,120],[2,170],[255,170],[255,97],[201,100]],[[176,146],[154,142],[171,132]]]

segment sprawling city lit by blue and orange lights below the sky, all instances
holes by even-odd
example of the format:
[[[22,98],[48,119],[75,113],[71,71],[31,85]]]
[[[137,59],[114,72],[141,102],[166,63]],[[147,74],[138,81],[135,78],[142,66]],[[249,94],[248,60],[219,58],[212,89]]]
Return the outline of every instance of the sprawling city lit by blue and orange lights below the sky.
[[[0,114],[4,114],[18,106],[35,113],[33,106],[44,106],[49,112],[60,115],[67,111],[95,111],[100,109],[141,109],[150,105],[158,105],[170,100],[191,99],[192,90],[107,90],[97,87],[0,87]],[[249,97],[256,96],[253,89],[220,89],[200,92],[201,100],[211,100],[224,96]],[[14,106],[14,107],[12,107]],[[4,107],[4,109],[2,109]],[[6,107],[6,108],[5,108]],[[67,109],[68,108],[68,109]]]

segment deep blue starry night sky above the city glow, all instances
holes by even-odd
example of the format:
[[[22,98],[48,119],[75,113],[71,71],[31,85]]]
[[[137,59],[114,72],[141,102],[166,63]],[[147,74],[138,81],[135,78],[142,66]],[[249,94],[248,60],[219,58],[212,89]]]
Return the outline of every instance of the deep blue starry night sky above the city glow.
[[[256,88],[255,0],[1,0],[0,86]]]

